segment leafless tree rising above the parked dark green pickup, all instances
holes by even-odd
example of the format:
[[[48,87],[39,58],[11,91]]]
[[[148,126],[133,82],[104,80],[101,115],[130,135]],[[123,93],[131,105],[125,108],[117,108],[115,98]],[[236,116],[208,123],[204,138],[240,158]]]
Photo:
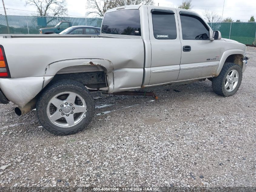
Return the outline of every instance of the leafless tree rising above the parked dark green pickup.
[[[26,5],[35,6],[40,16],[63,16],[68,13],[66,0],[26,0]]]

